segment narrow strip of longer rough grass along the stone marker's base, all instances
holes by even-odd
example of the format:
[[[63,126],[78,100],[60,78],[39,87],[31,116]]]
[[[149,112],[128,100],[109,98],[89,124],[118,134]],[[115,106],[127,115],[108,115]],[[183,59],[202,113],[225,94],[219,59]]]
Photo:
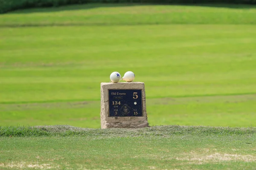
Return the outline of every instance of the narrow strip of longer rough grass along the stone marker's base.
[[[73,127],[70,125],[53,126],[0,126],[0,136],[84,136],[84,137],[129,137],[129,136],[163,136],[171,137],[174,135],[254,135],[255,127],[207,127],[207,126],[153,126],[141,129],[91,129]]]

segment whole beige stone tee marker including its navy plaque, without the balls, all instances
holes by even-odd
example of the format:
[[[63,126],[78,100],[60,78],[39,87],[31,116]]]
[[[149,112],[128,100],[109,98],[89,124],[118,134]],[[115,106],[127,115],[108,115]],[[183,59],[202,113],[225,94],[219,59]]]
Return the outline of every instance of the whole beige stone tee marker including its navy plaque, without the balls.
[[[148,127],[143,82],[101,83],[101,128]]]

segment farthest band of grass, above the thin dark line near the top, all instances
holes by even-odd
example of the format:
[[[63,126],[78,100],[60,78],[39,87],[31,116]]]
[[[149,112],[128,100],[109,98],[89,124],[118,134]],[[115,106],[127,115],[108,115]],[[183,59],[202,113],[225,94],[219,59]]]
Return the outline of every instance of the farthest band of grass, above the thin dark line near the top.
[[[252,5],[87,4],[17,10],[0,16],[0,27],[158,24],[256,24]]]

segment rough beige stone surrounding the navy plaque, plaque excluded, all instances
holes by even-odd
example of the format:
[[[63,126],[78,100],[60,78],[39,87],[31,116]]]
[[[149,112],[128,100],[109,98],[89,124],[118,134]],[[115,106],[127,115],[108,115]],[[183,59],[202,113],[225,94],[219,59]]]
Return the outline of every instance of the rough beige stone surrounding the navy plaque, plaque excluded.
[[[142,89],[143,117],[109,117],[108,89]],[[148,127],[145,85],[143,82],[102,82],[101,83],[101,128]]]

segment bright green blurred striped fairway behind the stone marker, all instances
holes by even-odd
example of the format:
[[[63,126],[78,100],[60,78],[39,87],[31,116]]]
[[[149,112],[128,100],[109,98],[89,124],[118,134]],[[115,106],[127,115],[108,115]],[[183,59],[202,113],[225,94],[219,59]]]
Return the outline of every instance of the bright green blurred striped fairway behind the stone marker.
[[[133,71],[145,82],[150,125],[256,126],[249,7],[98,4],[2,14],[0,125],[99,128],[100,83]]]

